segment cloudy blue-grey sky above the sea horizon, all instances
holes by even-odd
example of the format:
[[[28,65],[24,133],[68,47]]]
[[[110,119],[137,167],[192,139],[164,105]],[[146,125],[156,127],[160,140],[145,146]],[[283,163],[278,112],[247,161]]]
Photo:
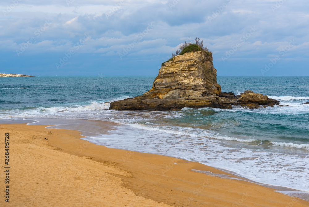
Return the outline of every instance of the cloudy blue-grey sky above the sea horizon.
[[[307,0],[2,0],[0,73],[156,76],[203,40],[219,76],[309,76]]]

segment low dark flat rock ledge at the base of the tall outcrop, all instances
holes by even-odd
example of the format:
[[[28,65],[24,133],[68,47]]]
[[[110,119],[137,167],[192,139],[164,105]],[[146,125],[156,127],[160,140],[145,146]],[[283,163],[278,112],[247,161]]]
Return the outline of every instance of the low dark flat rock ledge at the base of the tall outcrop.
[[[226,93],[227,94],[227,93]],[[110,103],[110,109],[115,110],[148,110],[148,111],[167,111],[180,110],[184,107],[188,108],[263,108],[278,105],[277,100],[269,99],[267,96],[261,94],[249,93],[241,100],[237,99],[235,95],[227,95],[226,97],[211,95],[204,97],[190,97],[179,99],[159,99],[158,96],[151,97],[147,95],[136,96],[121,101],[114,101]],[[240,97],[240,98],[241,98]],[[266,102],[265,102],[266,97]]]

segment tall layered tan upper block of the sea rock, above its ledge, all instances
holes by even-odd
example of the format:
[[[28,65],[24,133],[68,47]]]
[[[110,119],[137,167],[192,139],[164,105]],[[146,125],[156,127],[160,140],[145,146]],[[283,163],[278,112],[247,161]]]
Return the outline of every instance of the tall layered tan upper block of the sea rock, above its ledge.
[[[160,68],[152,88],[144,95],[170,99],[220,94],[221,86],[217,83],[217,70],[212,60],[212,55],[202,51],[175,56]]]

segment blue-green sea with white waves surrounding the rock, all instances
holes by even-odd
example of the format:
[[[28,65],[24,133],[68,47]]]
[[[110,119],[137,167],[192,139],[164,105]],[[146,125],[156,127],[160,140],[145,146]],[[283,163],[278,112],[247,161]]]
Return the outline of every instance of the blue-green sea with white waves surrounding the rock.
[[[309,77],[218,76],[222,92],[268,95],[259,109],[109,110],[142,95],[155,76],[0,78],[1,123],[75,129],[92,143],[196,161],[309,200]],[[117,125],[106,133],[93,121]],[[194,169],[193,169],[194,170]],[[210,172],[204,172],[211,174]],[[296,196],[297,196],[296,195]]]

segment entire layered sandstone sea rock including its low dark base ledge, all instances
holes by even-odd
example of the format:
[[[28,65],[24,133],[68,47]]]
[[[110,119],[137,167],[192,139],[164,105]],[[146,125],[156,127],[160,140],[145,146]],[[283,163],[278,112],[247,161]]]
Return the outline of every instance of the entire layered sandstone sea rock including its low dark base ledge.
[[[222,93],[212,55],[204,51],[177,55],[164,63],[152,88],[144,95],[114,101],[115,110],[180,110],[189,108],[261,108],[278,105],[277,100],[247,90],[241,95]]]

